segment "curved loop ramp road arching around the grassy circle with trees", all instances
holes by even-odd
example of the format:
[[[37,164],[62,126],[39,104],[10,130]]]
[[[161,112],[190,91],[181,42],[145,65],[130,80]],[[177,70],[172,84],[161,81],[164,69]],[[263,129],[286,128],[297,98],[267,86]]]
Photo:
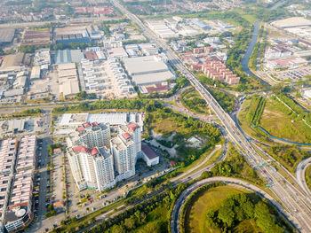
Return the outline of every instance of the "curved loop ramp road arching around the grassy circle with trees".
[[[257,192],[259,193],[261,198],[266,198],[267,200],[269,200],[277,208],[280,214],[283,214],[283,216],[285,216],[290,221],[294,221],[291,218],[291,215],[287,214],[287,212],[284,211],[283,206],[281,206],[277,201],[275,201],[274,198],[268,195],[267,192],[260,190],[257,186],[252,185],[251,183],[244,182],[239,179],[217,176],[217,177],[207,178],[197,183],[194,183],[180,194],[179,198],[176,200],[175,206],[171,213],[171,233],[180,232],[180,225],[179,225],[180,214],[181,214],[182,206],[184,206],[184,203],[186,202],[187,198],[189,198],[189,196],[195,190],[199,189],[202,185],[216,183],[216,182],[230,183],[231,185],[238,186],[246,190]]]

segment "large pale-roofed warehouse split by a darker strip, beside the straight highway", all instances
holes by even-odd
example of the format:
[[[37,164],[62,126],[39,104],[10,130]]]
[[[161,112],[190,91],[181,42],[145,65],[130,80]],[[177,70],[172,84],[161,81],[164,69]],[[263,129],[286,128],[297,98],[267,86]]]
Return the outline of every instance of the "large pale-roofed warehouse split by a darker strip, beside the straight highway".
[[[160,56],[125,58],[124,66],[136,85],[166,82],[175,78]]]

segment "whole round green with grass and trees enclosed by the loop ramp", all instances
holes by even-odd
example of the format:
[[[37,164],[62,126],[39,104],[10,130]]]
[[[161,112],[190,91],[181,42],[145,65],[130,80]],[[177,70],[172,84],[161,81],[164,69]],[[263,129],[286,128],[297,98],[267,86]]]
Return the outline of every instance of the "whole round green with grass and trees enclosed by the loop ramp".
[[[230,186],[195,190],[182,211],[181,232],[292,232],[267,200]]]

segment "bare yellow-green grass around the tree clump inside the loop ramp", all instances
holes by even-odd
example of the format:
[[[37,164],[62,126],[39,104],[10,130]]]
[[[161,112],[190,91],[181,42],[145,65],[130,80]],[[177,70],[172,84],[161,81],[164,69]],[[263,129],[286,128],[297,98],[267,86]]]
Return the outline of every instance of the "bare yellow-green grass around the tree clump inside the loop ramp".
[[[219,186],[211,188],[203,192],[195,200],[191,210],[186,216],[186,231],[187,233],[220,233],[220,229],[210,229],[205,221],[205,216],[208,210],[216,211],[219,209],[221,202],[228,195],[247,193],[246,190],[238,189],[232,186]],[[239,231],[243,229],[243,231]],[[242,221],[237,227],[236,232],[260,232],[254,221]]]

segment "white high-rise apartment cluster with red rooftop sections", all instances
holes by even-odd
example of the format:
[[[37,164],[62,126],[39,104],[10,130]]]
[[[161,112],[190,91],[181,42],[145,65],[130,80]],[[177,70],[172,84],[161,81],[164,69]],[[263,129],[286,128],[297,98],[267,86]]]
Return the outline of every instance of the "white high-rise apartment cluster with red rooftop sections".
[[[136,123],[114,128],[96,122],[84,123],[70,134],[68,159],[79,190],[105,190],[116,182],[135,175],[135,164],[141,153],[140,127]]]

